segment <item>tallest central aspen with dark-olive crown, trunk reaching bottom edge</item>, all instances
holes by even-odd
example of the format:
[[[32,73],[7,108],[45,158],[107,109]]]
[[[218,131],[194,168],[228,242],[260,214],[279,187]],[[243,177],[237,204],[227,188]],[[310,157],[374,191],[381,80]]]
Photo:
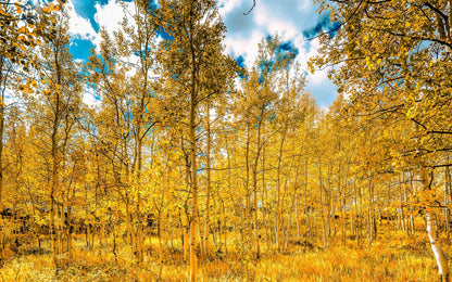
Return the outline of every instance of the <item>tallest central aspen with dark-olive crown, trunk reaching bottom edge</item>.
[[[161,1],[155,16],[155,25],[168,36],[160,44],[158,60],[162,64],[162,82],[178,90],[178,95],[186,101],[188,140],[190,142],[190,281],[198,275],[197,246],[200,242],[199,179],[198,179],[198,116],[200,102],[209,95],[217,94],[212,85],[203,81],[212,79],[214,65],[211,61],[223,64],[222,39],[225,26],[219,20],[214,0]],[[171,89],[170,91],[174,91]],[[208,95],[208,97],[205,97]]]

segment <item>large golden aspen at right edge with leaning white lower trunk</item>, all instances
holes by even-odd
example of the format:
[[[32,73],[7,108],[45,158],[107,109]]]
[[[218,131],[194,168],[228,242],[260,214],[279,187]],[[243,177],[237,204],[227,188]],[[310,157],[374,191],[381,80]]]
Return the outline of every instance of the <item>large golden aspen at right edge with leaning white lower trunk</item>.
[[[450,151],[452,121],[450,7],[448,0],[321,1],[321,10],[330,10],[336,24],[318,37],[321,55],[311,61],[317,66],[343,63],[330,75],[340,91],[350,93],[350,110],[362,119],[386,128],[401,125],[410,132],[391,159],[394,170],[416,169],[423,183],[430,179],[423,169],[451,166],[440,157]],[[425,162],[419,164],[419,157]],[[428,195],[428,189],[424,192]],[[432,242],[437,256],[439,242]],[[449,279],[443,260],[437,262],[442,279]]]

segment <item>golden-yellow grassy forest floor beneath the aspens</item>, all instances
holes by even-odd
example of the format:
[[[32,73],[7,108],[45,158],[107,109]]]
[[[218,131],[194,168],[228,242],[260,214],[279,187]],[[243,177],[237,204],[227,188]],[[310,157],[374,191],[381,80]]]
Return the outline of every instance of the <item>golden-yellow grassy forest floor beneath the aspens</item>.
[[[330,241],[291,243],[276,253],[263,242],[261,259],[249,247],[230,241],[226,254],[212,255],[200,262],[200,281],[438,281],[437,266],[425,232],[407,236],[400,231],[381,232],[376,242],[347,240],[340,235]],[[175,242],[173,242],[175,243]],[[184,261],[180,244],[170,243],[162,260],[158,258],[158,241],[146,241],[147,255],[137,267],[130,248],[118,247],[117,261],[110,246],[88,251],[83,236],[74,242],[74,260],[58,274],[52,268],[50,243],[37,254],[22,246],[18,254],[4,249],[5,264],[1,281],[187,281],[189,267]],[[443,240],[448,257],[452,245]],[[101,251],[99,251],[101,249]],[[22,254],[21,254],[22,253]],[[152,255],[153,254],[153,255]],[[159,279],[160,277],[160,279]]]

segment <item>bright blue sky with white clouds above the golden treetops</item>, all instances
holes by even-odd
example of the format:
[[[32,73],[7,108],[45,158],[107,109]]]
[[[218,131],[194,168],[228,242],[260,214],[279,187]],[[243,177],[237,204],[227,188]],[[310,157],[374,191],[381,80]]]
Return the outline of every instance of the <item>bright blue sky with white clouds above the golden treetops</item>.
[[[278,34],[282,41],[299,50],[297,60],[305,68],[307,59],[316,54],[318,48],[316,40],[306,38],[332,26],[326,15],[316,13],[312,0],[258,0],[248,16],[243,13],[251,8],[252,0],[219,0],[219,4],[227,27],[226,52],[242,56],[248,66],[253,65],[262,38]],[[72,8],[71,52],[75,59],[86,60],[89,49],[99,43],[99,28],[116,30],[124,12],[116,0],[71,0],[68,5]],[[326,70],[309,74],[306,90],[322,107],[330,105],[336,98],[336,87],[327,78]]]

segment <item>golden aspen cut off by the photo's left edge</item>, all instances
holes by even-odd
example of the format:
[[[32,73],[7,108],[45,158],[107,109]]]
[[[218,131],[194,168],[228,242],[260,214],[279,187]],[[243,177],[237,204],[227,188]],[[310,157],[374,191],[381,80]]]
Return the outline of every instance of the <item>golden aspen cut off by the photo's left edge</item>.
[[[42,9],[42,7],[36,7]],[[48,30],[46,26],[52,18],[51,11],[60,10],[60,4],[52,3],[50,9],[43,7],[38,13],[30,3],[25,1],[2,1],[0,3],[0,209],[3,210],[3,137],[7,111],[5,94],[11,87],[12,75],[24,77],[27,72],[38,64],[38,57],[30,50],[42,43],[40,36]],[[22,79],[21,79],[22,80]],[[20,84],[21,90],[33,91],[36,85],[33,80]],[[3,229],[3,223],[0,223]],[[3,232],[0,232],[3,242]],[[0,264],[3,262],[3,245],[0,246]]]

